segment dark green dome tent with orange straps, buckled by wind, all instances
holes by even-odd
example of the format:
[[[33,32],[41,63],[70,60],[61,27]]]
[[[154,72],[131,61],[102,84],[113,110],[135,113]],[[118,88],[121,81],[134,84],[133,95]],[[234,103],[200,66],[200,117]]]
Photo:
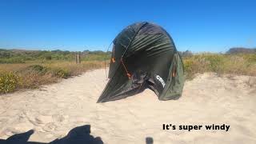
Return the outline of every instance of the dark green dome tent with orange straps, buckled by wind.
[[[150,22],[127,26],[114,38],[108,78],[98,102],[127,98],[146,88],[154,90],[159,100],[176,99],[185,81],[172,38]]]

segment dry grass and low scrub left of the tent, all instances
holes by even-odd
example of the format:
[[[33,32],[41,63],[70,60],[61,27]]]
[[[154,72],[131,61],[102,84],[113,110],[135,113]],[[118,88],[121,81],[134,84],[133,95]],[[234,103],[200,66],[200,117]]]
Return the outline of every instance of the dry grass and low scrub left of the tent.
[[[69,78],[104,66],[102,61],[89,61],[81,64],[65,61],[0,64],[0,79],[2,79],[0,94],[10,93],[14,90],[38,88],[45,84],[58,82],[62,78]],[[8,74],[14,75],[18,80],[13,82]]]

